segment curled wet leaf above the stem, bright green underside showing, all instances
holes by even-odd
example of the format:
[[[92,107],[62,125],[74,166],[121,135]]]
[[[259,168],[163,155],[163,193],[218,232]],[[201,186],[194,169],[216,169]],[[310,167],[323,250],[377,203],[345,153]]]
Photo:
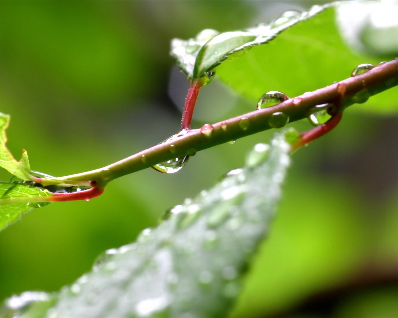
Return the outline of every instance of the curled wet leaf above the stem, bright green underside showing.
[[[182,62],[183,54],[175,54],[173,45],[172,55],[190,79],[220,64],[216,69],[220,80],[252,101],[254,110],[267,91],[295,97],[349,78],[359,64],[377,65],[398,56],[398,19],[394,14],[387,19],[386,10],[398,12],[398,4],[350,1],[314,6],[300,16],[288,18],[285,13],[243,32],[218,34],[198,50],[195,68]],[[251,34],[256,39],[242,44]],[[390,89],[354,109],[387,113],[396,112],[397,106],[396,91]]]

